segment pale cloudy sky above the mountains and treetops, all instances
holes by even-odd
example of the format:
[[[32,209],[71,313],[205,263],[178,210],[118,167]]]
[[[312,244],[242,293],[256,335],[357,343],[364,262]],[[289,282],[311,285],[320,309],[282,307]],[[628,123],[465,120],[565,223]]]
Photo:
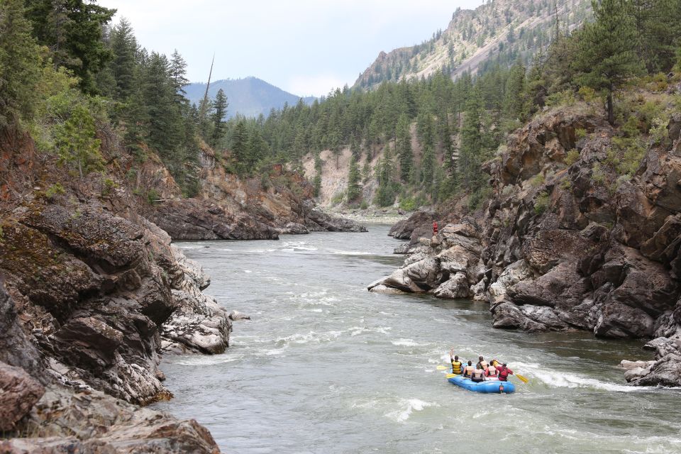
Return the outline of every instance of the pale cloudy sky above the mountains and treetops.
[[[298,96],[352,86],[379,52],[421,43],[483,0],[99,0],[138,43],[187,60],[206,82],[255,76]]]

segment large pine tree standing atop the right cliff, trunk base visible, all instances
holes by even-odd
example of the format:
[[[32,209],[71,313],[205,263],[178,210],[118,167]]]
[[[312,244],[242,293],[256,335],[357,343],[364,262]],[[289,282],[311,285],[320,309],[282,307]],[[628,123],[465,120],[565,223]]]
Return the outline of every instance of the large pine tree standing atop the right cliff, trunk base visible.
[[[585,24],[580,33],[577,67],[580,82],[607,94],[607,118],[614,124],[613,93],[628,77],[641,74],[641,61],[636,57],[636,26],[629,0],[592,1],[593,23]]]

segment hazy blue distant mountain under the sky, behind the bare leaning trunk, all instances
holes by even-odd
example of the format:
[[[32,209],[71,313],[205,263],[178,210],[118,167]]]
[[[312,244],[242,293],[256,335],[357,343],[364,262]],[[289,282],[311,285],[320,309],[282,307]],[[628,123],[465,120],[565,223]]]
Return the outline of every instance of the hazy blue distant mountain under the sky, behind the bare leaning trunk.
[[[267,116],[271,109],[282,109],[284,104],[295,106],[301,96],[296,96],[289,92],[268,84],[258,77],[245,77],[244,79],[223,79],[211,82],[208,95],[211,99],[215,98],[219,89],[223,89],[227,95],[229,106],[227,107],[227,117],[232,118],[236,114],[247,117],[257,117],[260,114]],[[199,105],[206,92],[206,84],[192,83],[184,87],[187,98],[190,102]],[[311,104],[316,98],[307,96],[303,102]]]

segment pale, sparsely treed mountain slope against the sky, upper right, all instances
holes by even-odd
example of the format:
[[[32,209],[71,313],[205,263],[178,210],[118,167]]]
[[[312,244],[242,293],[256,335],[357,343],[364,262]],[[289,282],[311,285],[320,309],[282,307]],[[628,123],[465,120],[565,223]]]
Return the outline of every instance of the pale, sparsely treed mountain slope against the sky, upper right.
[[[458,77],[499,63],[530,62],[555,36],[592,18],[590,0],[492,0],[475,10],[457,9],[445,31],[419,45],[380,52],[355,82],[372,89],[384,81],[428,77],[443,70]]]

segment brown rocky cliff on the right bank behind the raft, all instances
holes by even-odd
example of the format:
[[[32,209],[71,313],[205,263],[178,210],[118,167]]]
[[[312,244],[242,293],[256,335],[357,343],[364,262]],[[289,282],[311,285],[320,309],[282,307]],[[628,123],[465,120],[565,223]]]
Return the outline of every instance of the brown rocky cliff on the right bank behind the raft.
[[[496,328],[651,339],[626,379],[681,385],[680,93],[626,99],[619,128],[588,104],[544,112],[485,165],[484,209],[394,226],[409,256],[370,289],[488,301]]]

